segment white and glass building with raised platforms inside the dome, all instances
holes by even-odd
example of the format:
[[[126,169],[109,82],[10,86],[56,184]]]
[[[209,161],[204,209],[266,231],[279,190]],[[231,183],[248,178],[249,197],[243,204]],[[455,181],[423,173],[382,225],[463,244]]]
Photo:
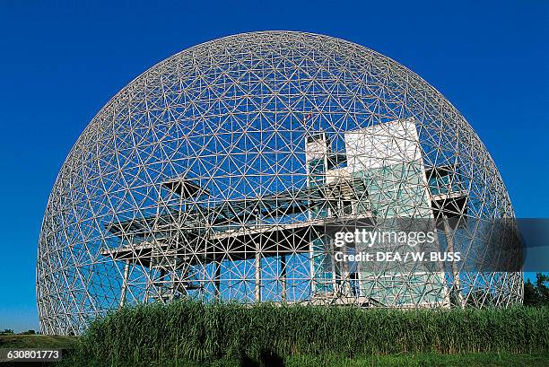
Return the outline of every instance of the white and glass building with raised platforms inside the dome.
[[[222,276],[221,264],[231,262],[238,267],[244,261],[255,264],[253,299],[262,301],[262,261],[268,259],[280,269],[280,298],[274,301],[449,307],[443,272],[416,272],[414,281],[419,285],[396,294],[394,284],[404,284],[409,274],[377,274],[363,271],[358,263],[337,264],[326,229],[342,219],[466,214],[466,191],[457,179],[449,178],[454,170],[425,169],[413,120],[346,132],[344,143],[344,152],[335,152],[325,133],[305,139],[308,185],[301,190],[205,207],[190,203],[193,197],[208,196],[208,190],[195,180],[163,182],[161,187],[170,190],[169,196],[177,195],[184,209],[170,208],[155,216],[109,223],[109,232],[117,235],[121,246],[101,253],[125,263],[123,284],[128,283],[131,267],[156,275],[150,278],[143,301],[172,301],[212,291],[214,297],[222,297],[222,288],[229,292],[226,284],[231,278]],[[428,187],[431,191],[426,191]],[[286,258],[292,256],[301,257],[303,264],[310,261],[313,281],[307,298],[288,298]],[[126,292],[124,285],[121,305]]]

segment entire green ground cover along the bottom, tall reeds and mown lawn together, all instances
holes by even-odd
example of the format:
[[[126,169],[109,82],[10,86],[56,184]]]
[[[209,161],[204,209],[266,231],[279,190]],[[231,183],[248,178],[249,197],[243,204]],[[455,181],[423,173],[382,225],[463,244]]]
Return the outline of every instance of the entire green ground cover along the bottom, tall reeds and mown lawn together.
[[[73,350],[58,367],[536,367],[549,366],[549,309],[181,301],[115,310],[79,337],[0,336],[0,347]]]

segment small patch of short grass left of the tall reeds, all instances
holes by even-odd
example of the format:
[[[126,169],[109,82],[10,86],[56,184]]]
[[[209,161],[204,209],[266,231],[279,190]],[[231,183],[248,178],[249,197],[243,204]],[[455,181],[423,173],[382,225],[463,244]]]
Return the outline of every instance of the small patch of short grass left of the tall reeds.
[[[77,336],[7,335],[0,336],[0,348],[74,349]]]

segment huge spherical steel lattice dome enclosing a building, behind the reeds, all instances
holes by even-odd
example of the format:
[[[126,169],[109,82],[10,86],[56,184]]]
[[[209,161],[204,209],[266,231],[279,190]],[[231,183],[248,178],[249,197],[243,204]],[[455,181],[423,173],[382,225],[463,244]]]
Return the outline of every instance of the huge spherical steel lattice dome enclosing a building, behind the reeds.
[[[322,229],[513,216],[473,129],[405,66],[301,32],[215,39],[138,76],[74,144],[40,232],[40,326],[79,333],[107,310],[182,298],[508,305],[518,272],[344,267]],[[447,249],[475,240],[439,232]]]

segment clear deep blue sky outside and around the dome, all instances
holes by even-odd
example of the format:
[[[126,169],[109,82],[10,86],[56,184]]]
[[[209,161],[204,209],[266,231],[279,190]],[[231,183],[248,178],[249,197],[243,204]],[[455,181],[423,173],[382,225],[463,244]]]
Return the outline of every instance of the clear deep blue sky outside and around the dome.
[[[549,217],[545,0],[39,3],[0,4],[0,329],[38,329],[39,227],[57,171],[90,119],[163,58],[243,31],[324,33],[408,66],[475,128],[516,214]]]

